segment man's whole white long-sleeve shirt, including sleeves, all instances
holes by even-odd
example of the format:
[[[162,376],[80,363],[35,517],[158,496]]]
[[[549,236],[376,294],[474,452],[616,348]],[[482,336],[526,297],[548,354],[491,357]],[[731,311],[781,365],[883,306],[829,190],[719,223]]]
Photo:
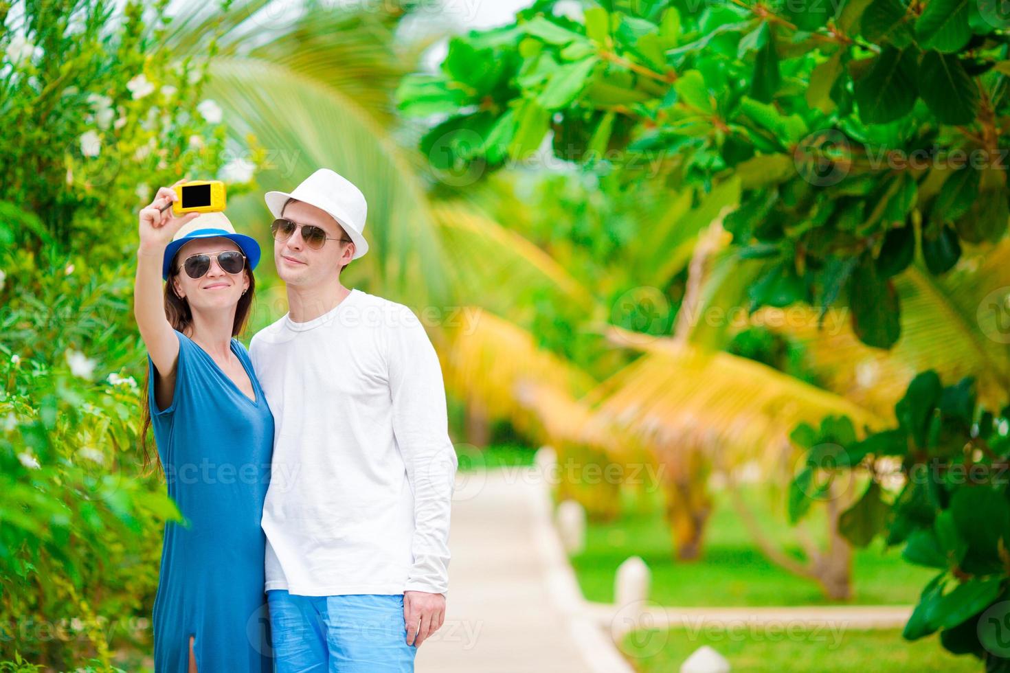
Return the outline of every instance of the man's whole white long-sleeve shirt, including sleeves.
[[[438,356],[414,313],[352,289],[252,337],[274,414],[266,589],[448,589],[456,450]]]

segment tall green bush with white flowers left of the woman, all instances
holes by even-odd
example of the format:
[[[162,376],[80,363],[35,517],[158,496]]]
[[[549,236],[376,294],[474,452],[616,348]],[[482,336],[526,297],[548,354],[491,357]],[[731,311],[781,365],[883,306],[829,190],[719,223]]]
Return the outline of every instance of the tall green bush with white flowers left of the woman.
[[[136,212],[225,140],[207,60],[160,49],[166,5],[0,4],[0,670],[149,650],[179,513],[136,451]]]

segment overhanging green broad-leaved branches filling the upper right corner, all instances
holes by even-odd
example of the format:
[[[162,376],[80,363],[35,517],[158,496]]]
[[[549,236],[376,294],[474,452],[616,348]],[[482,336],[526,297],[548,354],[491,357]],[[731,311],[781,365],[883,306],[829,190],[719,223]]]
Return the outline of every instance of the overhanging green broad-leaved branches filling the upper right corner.
[[[885,348],[916,251],[939,274],[1005,234],[1005,3],[600,4],[534,2],[403,82],[446,182],[540,161],[548,132],[557,157],[622,180],[739,181],[724,224],[766,260],[752,308],[840,302]]]

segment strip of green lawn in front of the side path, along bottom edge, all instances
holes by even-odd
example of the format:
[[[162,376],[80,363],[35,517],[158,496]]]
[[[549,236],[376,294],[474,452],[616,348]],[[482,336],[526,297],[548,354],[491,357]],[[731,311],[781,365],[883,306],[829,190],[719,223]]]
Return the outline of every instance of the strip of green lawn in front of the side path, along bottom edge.
[[[784,625],[777,630],[741,626],[646,631],[628,634],[622,650],[642,673],[666,673],[679,670],[703,645],[725,657],[730,670],[747,673],[979,673],[985,668],[971,655],[946,652],[935,636],[910,643],[902,639],[900,630],[845,630],[836,634]]]

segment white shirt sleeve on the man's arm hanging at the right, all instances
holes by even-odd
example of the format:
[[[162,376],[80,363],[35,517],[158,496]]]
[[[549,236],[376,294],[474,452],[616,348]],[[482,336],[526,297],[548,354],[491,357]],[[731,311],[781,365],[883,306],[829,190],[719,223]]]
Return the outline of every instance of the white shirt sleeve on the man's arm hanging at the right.
[[[448,528],[456,449],[448,436],[438,355],[424,326],[404,307],[389,326],[387,362],[393,434],[414,493],[413,565],[407,591],[448,590]]]

